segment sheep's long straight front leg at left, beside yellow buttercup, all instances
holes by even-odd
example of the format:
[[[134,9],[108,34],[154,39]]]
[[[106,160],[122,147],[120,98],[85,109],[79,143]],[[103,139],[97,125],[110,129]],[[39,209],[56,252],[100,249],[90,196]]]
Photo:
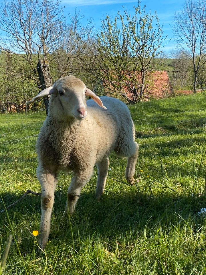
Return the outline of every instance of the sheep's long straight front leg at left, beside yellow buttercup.
[[[44,249],[49,238],[51,211],[54,204],[54,190],[56,188],[56,175],[54,172],[37,168],[37,177],[41,184],[41,223],[39,246]]]

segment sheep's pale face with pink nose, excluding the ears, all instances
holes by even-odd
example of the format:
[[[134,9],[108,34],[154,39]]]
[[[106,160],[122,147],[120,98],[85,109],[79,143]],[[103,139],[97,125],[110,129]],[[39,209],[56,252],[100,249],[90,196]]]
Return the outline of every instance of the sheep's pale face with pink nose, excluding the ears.
[[[79,79],[78,79],[79,80]],[[67,117],[83,120],[86,115],[86,86],[80,81],[71,85],[68,81],[61,81],[56,85],[57,97]]]

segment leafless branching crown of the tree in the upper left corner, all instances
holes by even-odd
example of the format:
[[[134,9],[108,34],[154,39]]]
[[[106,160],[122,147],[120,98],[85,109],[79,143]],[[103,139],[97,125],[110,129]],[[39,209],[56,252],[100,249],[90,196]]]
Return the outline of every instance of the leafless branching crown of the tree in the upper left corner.
[[[5,1],[0,9],[0,30],[4,50],[22,54],[32,64],[34,54],[38,60],[49,60],[56,41],[63,34],[63,9],[52,0]]]

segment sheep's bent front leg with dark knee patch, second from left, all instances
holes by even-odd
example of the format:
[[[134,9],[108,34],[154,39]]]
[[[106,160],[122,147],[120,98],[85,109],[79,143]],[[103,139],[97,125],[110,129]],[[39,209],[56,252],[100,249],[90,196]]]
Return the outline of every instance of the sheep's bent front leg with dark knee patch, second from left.
[[[93,167],[91,169],[82,171],[81,173],[76,173],[76,175],[72,178],[67,192],[67,202],[64,215],[72,215],[75,210],[76,203],[80,197],[81,190],[90,180],[92,174]]]

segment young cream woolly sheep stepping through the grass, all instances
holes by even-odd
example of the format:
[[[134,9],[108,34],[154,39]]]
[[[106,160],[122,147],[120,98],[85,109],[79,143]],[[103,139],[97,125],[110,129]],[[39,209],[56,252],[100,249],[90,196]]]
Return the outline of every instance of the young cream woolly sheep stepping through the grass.
[[[99,200],[102,196],[108,175],[108,156],[112,151],[119,157],[128,158],[125,176],[129,184],[134,184],[139,147],[134,141],[130,112],[122,101],[112,97],[99,98],[82,80],[70,74],[41,91],[27,104],[48,95],[51,95],[49,112],[36,143],[37,178],[41,184],[41,249],[49,237],[58,172],[74,172],[64,211],[64,215],[71,215],[95,164],[98,170],[95,197]],[[86,101],[85,96],[91,99]]]

